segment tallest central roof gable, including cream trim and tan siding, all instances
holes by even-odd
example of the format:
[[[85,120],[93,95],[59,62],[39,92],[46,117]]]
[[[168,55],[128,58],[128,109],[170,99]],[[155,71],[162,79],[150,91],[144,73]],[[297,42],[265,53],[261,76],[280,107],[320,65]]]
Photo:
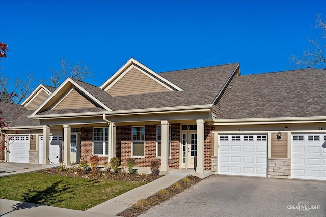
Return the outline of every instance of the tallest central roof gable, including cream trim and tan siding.
[[[149,92],[183,91],[182,88],[131,58],[110,79],[100,86],[111,96]]]

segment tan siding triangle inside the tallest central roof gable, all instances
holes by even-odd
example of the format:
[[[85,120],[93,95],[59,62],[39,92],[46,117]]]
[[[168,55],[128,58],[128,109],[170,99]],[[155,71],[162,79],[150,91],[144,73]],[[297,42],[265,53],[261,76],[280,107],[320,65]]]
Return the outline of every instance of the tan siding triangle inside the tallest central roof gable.
[[[107,90],[111,96],[145,94],[147,92],[170,91],[138,69],[132,68]]]

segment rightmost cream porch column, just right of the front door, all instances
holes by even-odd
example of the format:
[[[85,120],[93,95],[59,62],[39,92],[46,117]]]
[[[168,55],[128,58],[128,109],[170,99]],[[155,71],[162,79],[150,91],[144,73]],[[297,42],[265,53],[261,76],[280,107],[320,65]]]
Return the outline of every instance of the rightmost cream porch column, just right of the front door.
[[[204,174],[204,120],[196,120],[197,123],[197,167],[196,173]]]

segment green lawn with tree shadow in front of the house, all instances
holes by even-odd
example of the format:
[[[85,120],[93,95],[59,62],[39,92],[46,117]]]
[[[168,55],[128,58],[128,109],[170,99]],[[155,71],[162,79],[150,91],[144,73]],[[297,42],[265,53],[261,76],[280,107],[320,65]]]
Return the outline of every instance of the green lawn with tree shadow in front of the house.
[[[87,210],[137,188],[145,181],[112,181],[27,173],[0,178],[0,197],[61,208]]]

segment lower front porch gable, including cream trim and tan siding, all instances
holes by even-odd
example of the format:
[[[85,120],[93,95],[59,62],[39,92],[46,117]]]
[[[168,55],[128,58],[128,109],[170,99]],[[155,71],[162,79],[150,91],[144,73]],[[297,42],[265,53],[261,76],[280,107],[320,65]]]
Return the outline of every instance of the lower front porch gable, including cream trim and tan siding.
[[[85,87],[85,88],[84,88]],[[77,109],[77,108],[92,108],[99,107],[107,111],[112,111],[106,104],[98,100],[90,92],[90,89],[99,89],[98,87],[84,83],[82,81],[75,81],[74,79],[67,78],[53,93],[48,97],[33,113],[34,116],[38,113],[47,110],[59,109]],[[88,89],[88,90],[87,90]],[[96,91],[94,91],[96,92]],[[106,92],[103,93],[111,97]]]

